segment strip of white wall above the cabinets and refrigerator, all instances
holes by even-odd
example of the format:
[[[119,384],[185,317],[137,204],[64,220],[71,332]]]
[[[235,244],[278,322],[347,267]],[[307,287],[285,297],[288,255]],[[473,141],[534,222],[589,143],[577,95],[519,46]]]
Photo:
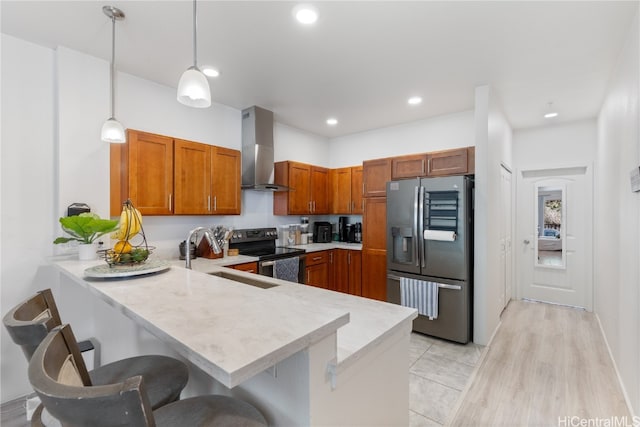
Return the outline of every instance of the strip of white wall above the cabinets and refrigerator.
[[[363,160],[473,146],[473,120],[473,111],[463,111],[333,138],[329,166],[340,168]]]

